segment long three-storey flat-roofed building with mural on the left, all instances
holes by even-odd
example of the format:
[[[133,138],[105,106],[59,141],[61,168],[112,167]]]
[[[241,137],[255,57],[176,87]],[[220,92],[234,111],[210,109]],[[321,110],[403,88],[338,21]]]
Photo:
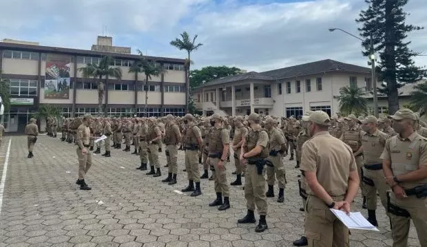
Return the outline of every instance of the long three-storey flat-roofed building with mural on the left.
[[[149,116],[185,114],[184,59],[150,56],[149,59],[163,66],[166,72],[152,77],[149,87],[145,87],[143,73],[128,72],[138,61],[138,55],[0,42],[3,73],[0,76],[10,82],[12,105],[4,116],[6,130],[23,131],[42,104],[59,107],[65,117],[98,114],[97,83],[92,78],[83,78],[79,68],[87,63],[98,63],[105,55],[112,56],[112,66],[120,67],[123,73],[121,80],[109,78],[105,86],[104,112],[107,116],[142,116],[144,89],[148,90]]]

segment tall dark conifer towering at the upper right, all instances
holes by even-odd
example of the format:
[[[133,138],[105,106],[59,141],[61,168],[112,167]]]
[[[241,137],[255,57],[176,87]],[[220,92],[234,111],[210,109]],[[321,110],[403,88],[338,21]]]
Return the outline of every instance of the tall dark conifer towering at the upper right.
[[[359,28],[360,35],[366,38],[362,42],[364,47],[369,47],[370,37],[373,36],[374,50],[379,53],[379,63],[375,71],[379,81],[385,82],[385,87],[380,88],[388,96],[388,111],[394,114],[399,109],[399,95],[397,89],[404,83],[415,83],[426,76],[426,70],[415,66],[413,56],[418,53],[410,50],[410,41],[406,38],[409,32],[421,30],[415,25],[406,24],[407,12],[402,9],[408,0],[365,0],[369,4],[367,10],[362,10],[357,23],[362,23]],[[369,50],[363,54],[367,56]],[[375,85],[374,85],[375,86]]]

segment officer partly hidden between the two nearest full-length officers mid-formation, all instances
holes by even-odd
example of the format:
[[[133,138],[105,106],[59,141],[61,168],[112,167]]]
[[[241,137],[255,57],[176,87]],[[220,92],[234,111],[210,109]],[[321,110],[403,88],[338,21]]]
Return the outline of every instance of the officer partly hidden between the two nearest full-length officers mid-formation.
[[[243,125],[243,117],[237,116],[234,120],[233,146],[231,146],[234,151],[234,165],[236,166],[236,180],[230,183],[233,186],[242,185],[242,173],[246,166],[240,162],[240,152],[247,133],[248,129]]]

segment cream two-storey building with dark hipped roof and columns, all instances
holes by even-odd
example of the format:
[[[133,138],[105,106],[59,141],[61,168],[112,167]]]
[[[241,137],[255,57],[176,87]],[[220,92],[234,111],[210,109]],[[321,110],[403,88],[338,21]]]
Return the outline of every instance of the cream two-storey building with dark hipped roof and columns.
[[[193,90],[196,109],[203,114],[251,112],[302,116],[307,110],[339,111],[341,87],[371,90],[371,69],[326,59],[267,72],[248,72],[212,80]]]

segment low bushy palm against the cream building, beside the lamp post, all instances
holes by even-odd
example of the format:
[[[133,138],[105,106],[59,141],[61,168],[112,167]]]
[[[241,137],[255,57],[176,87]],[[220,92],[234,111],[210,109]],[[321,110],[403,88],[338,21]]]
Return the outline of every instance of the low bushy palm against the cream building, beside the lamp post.
[[[359,87],[341,87],[340,96],[337,100],[340,101],[340,112],[344,114],[361,114],[366,112],[367,100],[364,98],[365,92]]]

